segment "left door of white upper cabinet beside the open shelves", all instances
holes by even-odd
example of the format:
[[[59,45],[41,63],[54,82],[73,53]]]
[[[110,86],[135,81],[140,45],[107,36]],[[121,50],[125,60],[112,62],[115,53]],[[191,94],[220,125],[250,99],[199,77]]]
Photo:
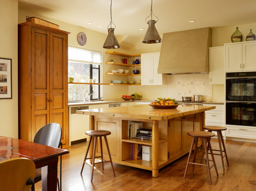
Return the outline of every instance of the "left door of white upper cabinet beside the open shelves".
[[[152,55],[151,54],[142,54],[141,55],[141,84],[142,85],[151,85],[152,81]]]

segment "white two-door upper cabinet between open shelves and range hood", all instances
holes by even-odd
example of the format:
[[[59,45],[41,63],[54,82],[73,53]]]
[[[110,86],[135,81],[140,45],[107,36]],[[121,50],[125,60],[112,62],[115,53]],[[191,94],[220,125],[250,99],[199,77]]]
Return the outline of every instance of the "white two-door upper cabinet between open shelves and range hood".
[[[141,84],[163,85],[165,76],[157,74],[160,52],[141,55]]]

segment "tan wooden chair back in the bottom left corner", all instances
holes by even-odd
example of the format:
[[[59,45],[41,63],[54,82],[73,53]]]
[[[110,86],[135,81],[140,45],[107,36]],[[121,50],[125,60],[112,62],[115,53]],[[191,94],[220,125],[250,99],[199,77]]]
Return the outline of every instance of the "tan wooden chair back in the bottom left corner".
[[[0,172],[1,191],[35,191],[35,164],[30,159],[14,158],[1,161]]]

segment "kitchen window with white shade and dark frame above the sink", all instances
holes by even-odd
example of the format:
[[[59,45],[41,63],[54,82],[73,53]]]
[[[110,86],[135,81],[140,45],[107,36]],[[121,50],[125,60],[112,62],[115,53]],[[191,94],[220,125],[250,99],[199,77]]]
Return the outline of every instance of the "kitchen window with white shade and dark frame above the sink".
[[[68,47],[68,77],[74,82],[88,83],[94,79],[100,83],[101,52]],[[91,84],[68,84],[68,101],[100,99],[100,86]]]

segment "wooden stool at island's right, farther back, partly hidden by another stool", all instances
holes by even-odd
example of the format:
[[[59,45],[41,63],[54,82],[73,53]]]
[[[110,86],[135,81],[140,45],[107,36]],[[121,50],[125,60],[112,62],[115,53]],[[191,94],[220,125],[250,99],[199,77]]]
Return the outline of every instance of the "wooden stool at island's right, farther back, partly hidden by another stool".
[[[219,126],[205,126],[205,127],[203,127],[203,129],[208,130],[209,132],[217,131],[220,150],[216,150],[216,149],[212,149],[212,150],[213,151],[219,151],[221,153],[221,154],[217,154],[217,153],[213,153],[213,154],[221,156],[223,171],[225,171],[224,160],[223,160],[223,158],[225,156],[226,156],[226,161],[227,161],[228,165],[229,165],[229,163],[228,163],[228,156],[227,156],[227,152],[226,152],[226,148],[225,148],[225,144],[224,144],[224,140],[223,140],[223,136],[222,136],[221,131],[226,131],[227,128],[226,127],[219,127]],[[222,143],[222,146],[223,146],[223,150],[222,150],[222,147],[221,147],[221,143]],[[223,155],[223,152],[224,152],[224,155]],[[203,156],[204,156],[204,152],[202,153],[202,158],[203,158]],[[201,163],[202,163],[202,161],[201,161]]]

